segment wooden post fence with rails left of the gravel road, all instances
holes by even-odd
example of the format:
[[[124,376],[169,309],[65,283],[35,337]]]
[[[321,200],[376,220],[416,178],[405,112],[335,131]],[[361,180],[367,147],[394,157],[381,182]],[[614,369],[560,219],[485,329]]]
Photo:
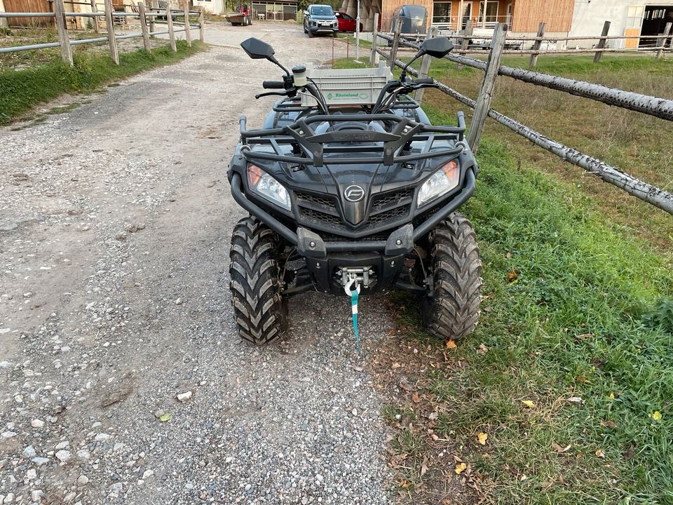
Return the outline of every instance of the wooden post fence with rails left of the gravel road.
[[[170,41],[170,48],[173,51],[177,51],[177,46],[175,44],[175,34],[179,32],[185,32],[185,39],[187,44],[191,46],[191,30],[199,30],[199,39],[203,42],[204,35],[204,19],[203,11],[190,11],[188,4],[185,4],[184,10],[172,11],[170,6],[165,8],[164,11],[160,12],[148,12],[145,9],[145,6],[142,1],[138,2],[137,8],[138,12],[116,12],[112,6],[111,0],[105,0],[104,2],[104,11],[95,11],[95,12],[67,12],[64,9],[63,0],[53,0],[54,12],[44,12],[44,13],[0,13],[0,19],[2,18],[55,18],[56,29],[58,32],[58,42],[46,42],[46,43],[36,43],[29,44],[25,46],[9,46],[9,47],[0,47],[0,54],[2,53],[16,53],[18,51],[25,50],[36,50],[36,49],[46,49],[46,48],[60,48],[61,59],[66,62],[71,67],[73,66],[72,60],[72,46],[77,46],[80,44],[88,43],[105,43],[109,45],[110,58],[119,65],[119,54],[117,50],[117,41],[123,39],[134,39],[142,37],[143,46],[146,50],[151,50],[150,37],[155,35],[166,35]],[[175,26],[174,18],[183,16],[184,23],[181,23],[179,26]],[[102,36],[95,37],[94,39],[71,39],[67,29],[66,18],[104,18],[105,26],[107,27],[107,34],[100,34]],[[140,20],[140,33],[131,33],[131,34],[116,34],[114,32],[114,19],[115,18],[137,18]],[[155,25],[157,24],[157,18],[165,18],[168,25],[168,29],[165,30],[155,30]],[[196,25],[192,24],[192,18],[196,18]],[[98,23],[95,23],[95,26],[98,27]],[[97,29],[98,32],[98,29]]]

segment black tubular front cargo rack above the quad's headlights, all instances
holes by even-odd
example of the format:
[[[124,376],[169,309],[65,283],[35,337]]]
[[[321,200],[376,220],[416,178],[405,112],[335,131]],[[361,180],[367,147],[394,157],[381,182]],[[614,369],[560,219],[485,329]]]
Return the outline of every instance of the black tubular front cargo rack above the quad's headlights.
[[[383,121],[394,123],[390,133],[376,130],[344,129],[335,130],[316,135],[311,124],[313,123],[345,123],[362,121]],[[269,128],[268,130],[247,130],[247,119],[240,116],[240,137],[243,142],[241,154],[248,161],[261,159],[269,161],[281,161],[285,163],[297,163],[298,165],[313,165],[321,167],[325,163],[325,154],[337,153],[371,153],[380,152],[381,156],[353,157],[330,157],[331,165],[353,165],[368,163],[383,163],[390,166],[395,163],[406,163],[421,159],[437,158],[440,156],[454,156],[465,150],[463,142],[465,134],[465,117],[458,112],[458,126],[432,126],[424,123],[416,123],[396,114],[320,114],[299,119],[294,123],[282,128]],[[407,154],[395,156],[395,153],[411,144],[411,142],[423,140],[426,146],[419,154]],[[454,140],[455,147],[444,149],[432,149],[435,140]],[[379,145],[372,145],[379,142]],[[357,144],[367,145],[357,145]],[[254,151],[255,145],[270,145],[273,152]],[[293,156],[283,154],[282,145],[291,145]],[[325,147],[325,144],[330,144]],[[335,146],[333,144],[342,144]]]

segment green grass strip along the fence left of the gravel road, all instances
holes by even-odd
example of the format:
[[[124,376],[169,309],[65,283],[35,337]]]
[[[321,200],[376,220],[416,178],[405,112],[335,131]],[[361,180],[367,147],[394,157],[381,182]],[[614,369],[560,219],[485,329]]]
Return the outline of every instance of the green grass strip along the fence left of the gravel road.
[[[190,48],[177,41],[177,53],[170,48],[144,49],[119,55],[120,65],[104,54],[81,52],[74,54],[74,67],[60,60],[36,68],[0,72],[0,125],[22,119],[31,109],[60,95],[87,93],[118,79],[163,65],[170,65],[202,50],[196,41]]]

